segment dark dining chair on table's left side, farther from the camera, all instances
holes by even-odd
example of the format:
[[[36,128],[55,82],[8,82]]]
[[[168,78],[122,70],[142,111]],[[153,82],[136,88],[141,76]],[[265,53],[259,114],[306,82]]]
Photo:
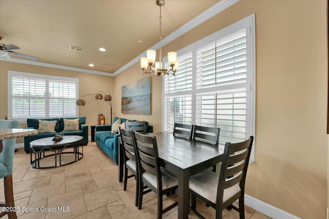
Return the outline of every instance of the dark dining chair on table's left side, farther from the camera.
[[[137,162],[136,162],[136,152],[133,140],[132,130],[125,130],[119,127],[121,142],[122,142],[122,151],[123,151],[123,163],[124,163],[124,176],[123,176],[123,190],[127,189],[127,180],[128,178],[135,177],[136,179],[136,198],[135,206],[138,206],[138,173],[137,173]],[[131,175],[128,175],[128,169],[132,172]]]

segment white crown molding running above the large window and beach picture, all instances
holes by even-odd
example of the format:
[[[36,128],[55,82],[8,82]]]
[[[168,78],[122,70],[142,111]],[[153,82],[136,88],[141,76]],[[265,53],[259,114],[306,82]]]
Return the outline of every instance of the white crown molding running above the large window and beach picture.
[[[177,30],[175,30],[174,32],[169,34],[167,37],[161,39],[161,45],[165,46],[166,44],[172,42],[174,39],[178,38],[182,34],[192,30],[196,26],[204,23],[209,18],[211,18],[211,17],[215,16],[216,14],[224,11],[225,9],[227,9],[228,7],[234,5],[235,3],[239,2],[239,1],[240,0],[222,0],[218,3],[216,3],[212,7],[208,8],[204,12],[200,13],[199,15],[197,15],[196,17],[191,19],[191,21],[189,21],[185,25],[181,26],[180,28],[178,28]],[[156,43],[152,47],[150,47],[149,49],[158,50],[159,48],[160,48],[159,43]],[[113,76],[121,73],[125,69],[127,69],[127,68],[131,67],[132,65],[134,65],[135,63],[139,62],[140,58],[145,56],[145,54],[146,54],[146,50],[143,53],[141,53],[140,55],[138,55],[137,57],[135,57],[132,61],[125,64],[124,66],[119,68],[117,71],[115,71],[113,73]]]

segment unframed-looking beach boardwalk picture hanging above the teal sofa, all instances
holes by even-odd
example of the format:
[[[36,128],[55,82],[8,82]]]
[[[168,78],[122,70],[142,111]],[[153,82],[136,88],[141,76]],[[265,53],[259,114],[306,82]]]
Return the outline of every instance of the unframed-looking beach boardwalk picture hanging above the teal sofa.
[[[151,115],[151,76],[122,86],[121,113]]]

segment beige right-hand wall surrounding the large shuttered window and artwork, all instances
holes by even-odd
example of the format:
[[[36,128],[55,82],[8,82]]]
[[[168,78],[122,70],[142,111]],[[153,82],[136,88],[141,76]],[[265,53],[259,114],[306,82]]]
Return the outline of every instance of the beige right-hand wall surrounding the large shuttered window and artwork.
[[[163,54],[255,13],[255,159],[246,193],[302,218],[326,215],[326,1],[240,1],[166,45]],[[154,36],[156,37],[156,36]],[[161,78],[152,75],[152,115],[120,113],[121,86],[145,77],[139,64],[115,76],[116,116],[161,130]]]

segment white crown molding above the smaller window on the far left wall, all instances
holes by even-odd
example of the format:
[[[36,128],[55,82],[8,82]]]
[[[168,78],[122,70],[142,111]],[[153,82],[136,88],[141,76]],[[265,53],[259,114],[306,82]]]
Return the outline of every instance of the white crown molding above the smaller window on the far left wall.
[[[57,69],[63,69],[63,70],[69,70],[69,71],[79,71],[89,74],[101,74],[106,76],[114,76],[113,73],[107,73],[102,71],[95,71],[95,70],[89,70],[89,69],[83,69],[83,68],[76,68],[76,67],[70,67],[70,66],[63,66],[63,65],[56,65],[56,64],[50,64],[50,63],[42,63],[42,62],[36,62],[36,61],[30,61],[26,59],[20,59],[20,58],[11,58],[10,60],[6,60],[3,57],[0,57],[0,61],[5,62],[13,62],[13,63],[21,63],[21,64],[27,64],[27,65],[35,65],[35,66],[43,66],[48,68],[57,68]]]

